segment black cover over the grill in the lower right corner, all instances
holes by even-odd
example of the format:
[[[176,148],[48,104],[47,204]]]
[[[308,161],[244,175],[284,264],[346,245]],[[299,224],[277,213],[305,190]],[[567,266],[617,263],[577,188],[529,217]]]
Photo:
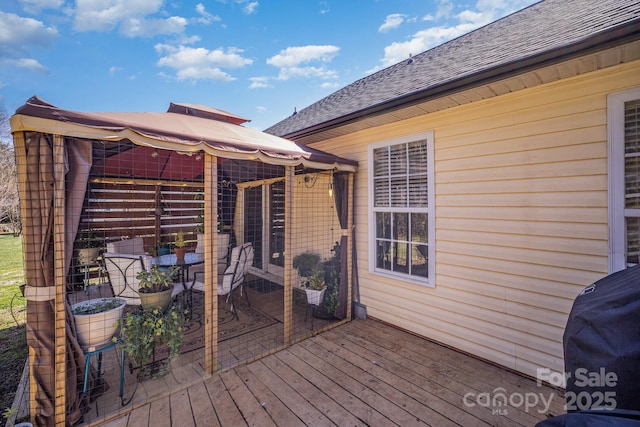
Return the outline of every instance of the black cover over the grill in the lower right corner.
[[[573,303],[563,342],[566,400],[574,403],[568,412],[595,409],[584,406],[600,399],[597,392],[614,392],[617,409],[640,410],[640,265],[585,288]],[[603,402],[610,409],[607,402],[611,398]]]

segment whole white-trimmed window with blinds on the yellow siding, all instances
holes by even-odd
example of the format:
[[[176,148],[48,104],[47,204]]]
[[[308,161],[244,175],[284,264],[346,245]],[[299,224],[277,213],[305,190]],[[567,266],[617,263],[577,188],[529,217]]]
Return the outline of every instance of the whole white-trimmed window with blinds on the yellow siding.
[[[433,132],[369,146],[369,270],[435,285]]]

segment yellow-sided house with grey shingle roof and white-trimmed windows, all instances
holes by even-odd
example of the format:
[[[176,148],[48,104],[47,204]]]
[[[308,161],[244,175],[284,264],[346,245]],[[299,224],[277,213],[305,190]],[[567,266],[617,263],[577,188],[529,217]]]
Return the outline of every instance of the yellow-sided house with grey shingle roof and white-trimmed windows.
[[[640,4],[546,0],[266,132],[356,160],[357,302],[521,373],[640,254]]]

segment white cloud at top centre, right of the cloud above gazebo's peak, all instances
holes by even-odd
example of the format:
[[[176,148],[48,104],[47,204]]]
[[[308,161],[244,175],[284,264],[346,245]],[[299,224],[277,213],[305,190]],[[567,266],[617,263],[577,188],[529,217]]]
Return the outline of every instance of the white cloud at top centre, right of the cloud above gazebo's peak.
[[[340,48],[331,45],[309,45],[288,47],[281,50],[277,55],[267,59],[267,64],[280,68],[278,79],[288,80],[292,77],[319,77],[321,79],[333,79],[337,73],[326,69],[324,63],[331,60],[338,54]],[[320,62],[318,66],[302,66],[311,62]]]

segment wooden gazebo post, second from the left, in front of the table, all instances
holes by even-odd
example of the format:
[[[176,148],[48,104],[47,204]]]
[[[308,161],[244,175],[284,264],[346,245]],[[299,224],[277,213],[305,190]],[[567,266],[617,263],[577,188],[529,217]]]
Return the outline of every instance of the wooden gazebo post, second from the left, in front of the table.
[[[218,370],[218,158],[204,155],[204,366]]]

